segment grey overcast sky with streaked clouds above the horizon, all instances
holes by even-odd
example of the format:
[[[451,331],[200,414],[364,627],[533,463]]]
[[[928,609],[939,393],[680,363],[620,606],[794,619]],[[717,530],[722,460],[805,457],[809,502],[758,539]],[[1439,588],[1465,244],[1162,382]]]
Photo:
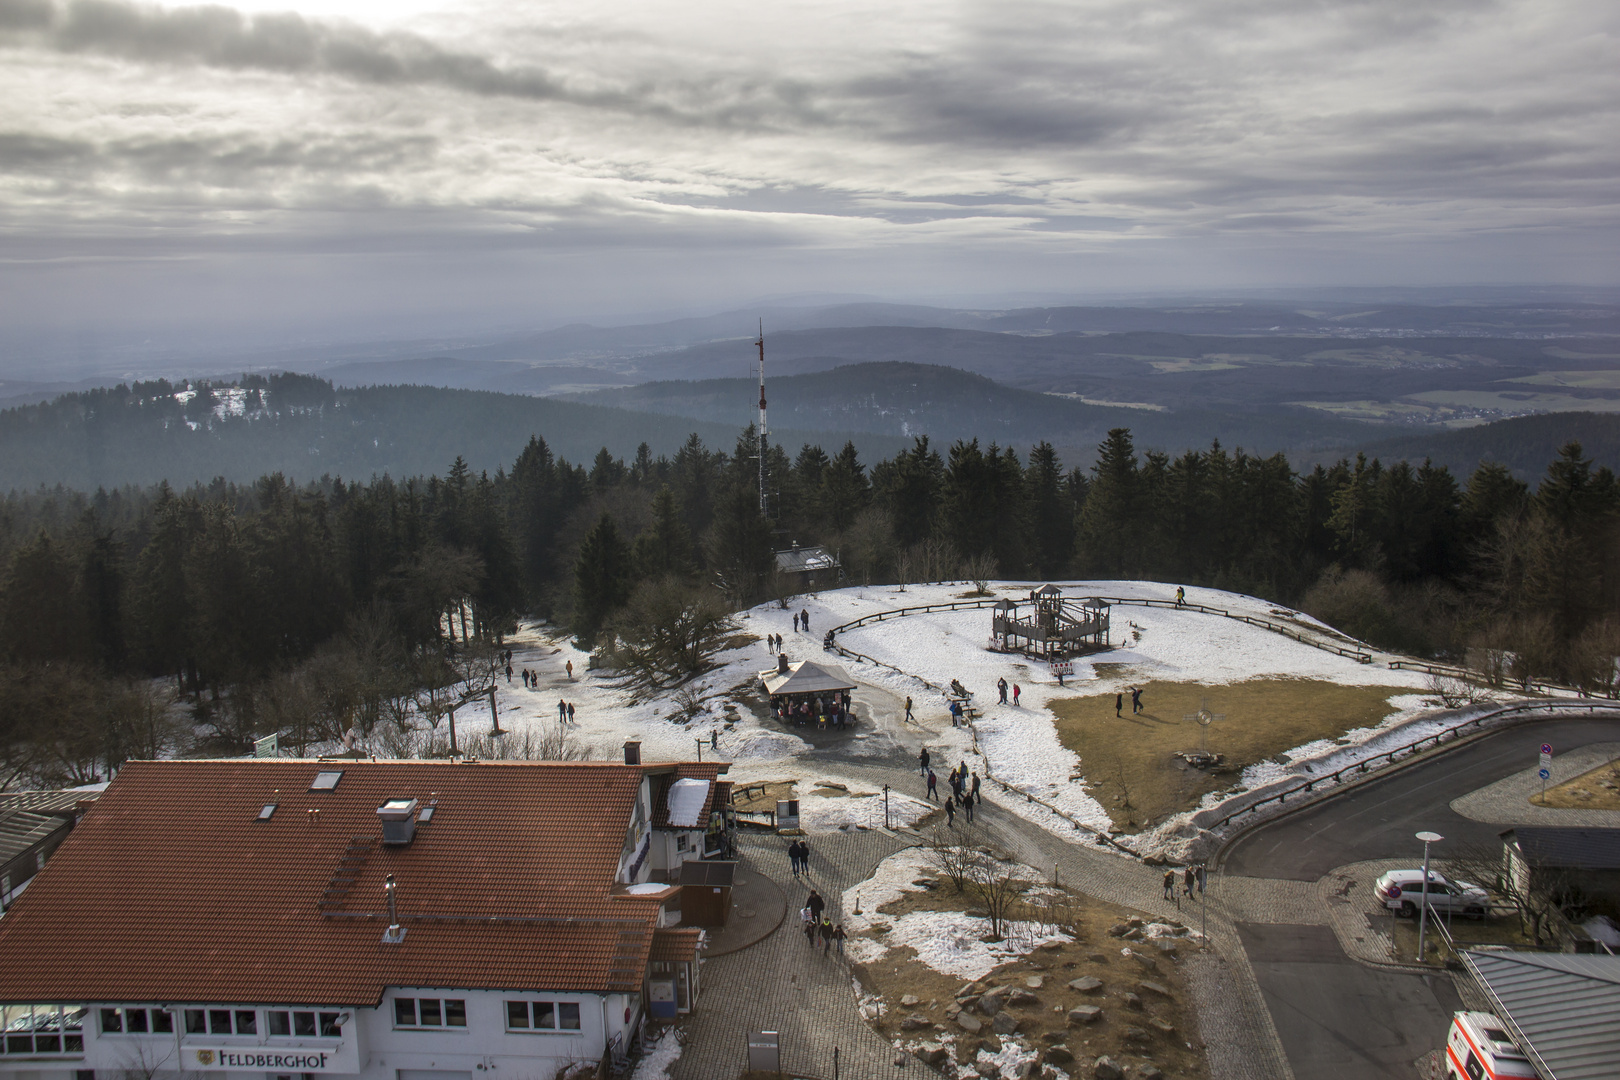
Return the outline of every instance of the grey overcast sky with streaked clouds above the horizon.
[[[1614,0],[0,0],[0,319],[1620,280]]]

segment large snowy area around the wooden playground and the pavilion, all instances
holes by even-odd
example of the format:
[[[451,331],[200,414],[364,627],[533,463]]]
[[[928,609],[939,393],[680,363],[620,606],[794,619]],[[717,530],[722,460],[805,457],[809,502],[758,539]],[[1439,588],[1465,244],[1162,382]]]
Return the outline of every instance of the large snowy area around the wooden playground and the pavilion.
[[[996,583],[991,591],[998,596],[1025,597],[1037,586],[1038,583],[1027,581]],[[1174,597],[1174,586],[1149,581],[1069,581],[1059,586],[1071,597]],[[1064,687],[1058,685],[1043,664],[985,648],[990,636],[988,609],[909,615],[868,623],[839,636],[839,643],[846,648],[893,664],[906,674],[852,662],[821,649],[825,631],[834,625],[896,607],[964,599],[970,589],[972,586],[962,583],[914,585],[906,589],[846,588],[794,597],[786,609],[763,604],[737,617],[744,633],[758,638],[781,633],[789,661],[841,664],[862,683],[857,701],[867,706],[862,711],[863,717],[867,712],[881,712],[876,725],[863,719],[854,735],[836,743],[833,750],[816,753],[813,759],[808,755],[815,748],[794,729],[781,730],[758,719],[747,706],[732,712],[724,708],[727,704],[724,695],[734,688],[760,695],[753,699],[763,704],[758,674],[776,664],[763,640],[716,657],[718,667],[697,680],[703,690],[705,711],[697,719],[684,722],[676,719],[672,695],[632,703],[627,693],[614,687],[609,674],[586,672],[586,654],[575,649],[564,635],[525,625],[509,640],[514,649],[514,677],[510,683],[502,680],[499,685],[501,724],[507,729],[556,724],[557,701],[567,699],[575,704],[575,727],[570,730],[582,743],[593,746],[595,756],[617,756],[620,743],[635,738],[642,742],[643,761],[690,759],[698,751],[697,742],[701,740],[703,758],[719,756],[731,761],[734,780],[797,777],[800,798],[812,793],[810,784],[815,779],[838,779],[839,759],[859,764],[863,759],[888,756],[896,761],[897,748],[909,756],[915,753],[915,746],[925,743],[936,763],[941,785],[946,769],[956,763],[967,763],[983,776],[988,758],[996,780],[1013,785],[1017,792],[1035,795],[1095,829],[1110,826],[1108,814],[1087,793],[1084,782],[1072,779],[1084,777],[1085,763],[1058,740],[1047,709],[1055,698],[1116,693],[1131,683],[1150,680],[1220,685],[1259,677],[1320,678],[1390,688],[1392,716],[1380,725],[1348,733],[1348,743],[1324,740],[1291,748],[1286,753],[1288,764],[1273,759],[1251,766],[1241,777],[1247,789],[1304,774],[1306,766],[1319,774],[1332,771],[1442,725],[1442,721],[1421,721],[1434,708],[1426,704],[1429,677],[1421,672],[1392,670],[1383,664],[1359,664],[1259,627],[1194,610],[1115,607],[1111,636],[1116,648],[1074,661],[1074,674],[1064,680]],[[1336,636],[1333,630],[1306,615],[1286,612],[1251,596],[1189,588],[1187,601],[1272,622],[1293,620],[1304,628],[1320,628],[1324,640]],[[792,615],[800,610],[810,615],[808,633],[794,630]],[[572,680],[564,672],[564,664],[569,661],[573,662]],[[538,674],[538,688],[523,687],[517,672],[525,667]],[[914,675],[935,685],[948,685],[951,678],[959,678],[975,693],[975,703],[983,708],[983,717],[975,725],[978,753],[974,751],[967,729],[951,727],[946,699]],[[1017,706],[996,704],[995,683],[1003,677],[1021,688]],[[919,724],[899,722],[907,696],[914,699]],[[483,730],[488,711],[468,708],[458,719],[463,730]],[[1445,722],[1455,722],[1455,716]],[[710,743],[711,732],[718,732],[718,751]],[[917,793],[922,793],[920,785]],[[985,795],[1000,798],[1059,836],[1089,840],[1089,834],[1077,832],[1072,824],[1042,808],[1040,803],[1008,798],[996,787],[987,787]],[[1205,800],[1205,806],[1218,800],[1220,795],[1212,795]],[[881,806],[873,810],[870,800],[813,801],[829,805],[812,808],[807,814],[810,829],[881,823]]]

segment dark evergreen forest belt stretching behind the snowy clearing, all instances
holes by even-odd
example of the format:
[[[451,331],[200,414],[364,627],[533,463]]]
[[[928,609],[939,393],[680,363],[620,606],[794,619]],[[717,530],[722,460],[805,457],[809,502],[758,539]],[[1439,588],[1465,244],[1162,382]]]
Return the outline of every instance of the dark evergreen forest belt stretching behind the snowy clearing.
[[[727,610],[791,591],[773,551],[794,541],[826,544],[852,581],[1212,585],[1377,644],[1479,649],[1500,677],[1614,683],[1620,486],[1578,444],[1534,486],[1497,463],[1460,479],[1366,457],[1296,473],[1220,444],[1171,458],[1124,427],[1089,470],[1050,444],[1021,458],[920,437],[870,465],[852,444],[773,444],[768,518],[757,445],[752,429],[729,452],[693,434],[583,465],[536,436],[492,474],[455,458],[408,479],[11,494],[0,785],[269,732],[296,748],[405,732],[488,685],[522,614],[674,685]],[[669,627],[685,641],[661,657]]]

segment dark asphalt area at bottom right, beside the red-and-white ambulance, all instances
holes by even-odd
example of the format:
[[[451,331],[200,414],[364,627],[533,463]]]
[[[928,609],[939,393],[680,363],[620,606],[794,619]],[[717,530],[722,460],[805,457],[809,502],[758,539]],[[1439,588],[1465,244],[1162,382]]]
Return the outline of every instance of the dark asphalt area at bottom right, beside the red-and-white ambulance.
[[[1356,963],[1327,926],[1238,923],[1238,936],[1301,1080],[1411,1077],[1463,1007],[1450,978]]]

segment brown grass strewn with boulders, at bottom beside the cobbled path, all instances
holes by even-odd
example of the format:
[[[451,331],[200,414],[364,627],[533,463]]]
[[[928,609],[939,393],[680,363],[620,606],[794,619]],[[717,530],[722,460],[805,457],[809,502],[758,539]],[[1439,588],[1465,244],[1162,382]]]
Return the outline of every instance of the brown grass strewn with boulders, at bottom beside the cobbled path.
[[[906,892],[899,900],[885,904],[880,912],[885,915],[904,915],[915,910],[967,910],[975,905],[972,894],[954,892],[944,878],[935,878],[935,887],[922,892]],[[1053,942],[1042,946],[1027,957],[1003,963],[988,976],[978,981],[980,988],[991,986],[1025,986],[1025,980],[1040,975],[1043,984],[1032,993],[1040,999],[1034,1006],[1016,1006],[1009,1012],[1019,1018],[1017,1036],[1035,1048],[1055,1044],[1068,1046],[1076,1059],[1090,1061],[1102,1054],[1111,1056],[1126,1065],[1144,1064],[1149,1057],[1170,1077],[1205,1077],[1207,1069],[1202,1049],[1191,1049],[1187,1043],[1199,1048],[1197,1020],[1192,1012],[1191,993],[1183,978],[1179,960],[1163,955],[1152,944],[1121,941],[1108,934],[1108,928],[1123,923],[1140,913],[1129,908],[1095,900],[1085,895],[1071,894],[1068,918],[1076,941]],[[1191,916],[1189,916],[1191,918]],[[1153,972],[1144,968],[1137,960],[1121,955],[1119,947],[1131,946],[1155,959]],[[1197,949],[1197,944],[1186,939],[1176,941],[1179,955]],[[915,950],[899,947],[872,963],[852,965],[855,976],[865,993],[883,997],[885,1014],[873,1027],[888,1040],[933,1041],[941,1035],[956,1040],[954,1057],[957,1062],[972,1061],[985,1040],[991,1040],[985,1049],[995,1049],[995,1036],[990,1031],[990,1018],[978,1015],[985,1022],[980,1035],[962,1031],[946,1010],[954,1004],[957,991],[966,981],[953,975],[941,975],[933,968],[917,963]],[[1102,980],[1098,993],[1082,994],[1069,989],[1069,981],[1092,975]],[[1152,980],[1170,989],[1170,997],[1158,997],[1144,993],[1137,983]],[[901,1006],[906,994],[917,997],[915,1006]],[[1139,1007],[1128,1004],[1126,994],[1136,994]],[[1089,1025],[1069,1025],[1068,1012],[1074,1006],[1100,1006],[1103,1015]],[[907,1017],[917,1017],[930,1025],[938,1023],[944,1030],[930,1027],[904,1030],[901,1023]],[[1174,1035],[1160,1035],[1149,1025],[1150,1018],[1165,1020],[1174,1027]],[[1145,1043],[1126,1038],[1126,1028],[1134,1027],[1149,1031]],[[1063,1065],[1071,1075],[1081,1075],[1079,1065]],[[1090,1070],[1084,1070],[1090,1075]],[[948,1074],[949,1075],[949,1074]],[[1134,1070],[1132,1070],[1134,1075]]]

